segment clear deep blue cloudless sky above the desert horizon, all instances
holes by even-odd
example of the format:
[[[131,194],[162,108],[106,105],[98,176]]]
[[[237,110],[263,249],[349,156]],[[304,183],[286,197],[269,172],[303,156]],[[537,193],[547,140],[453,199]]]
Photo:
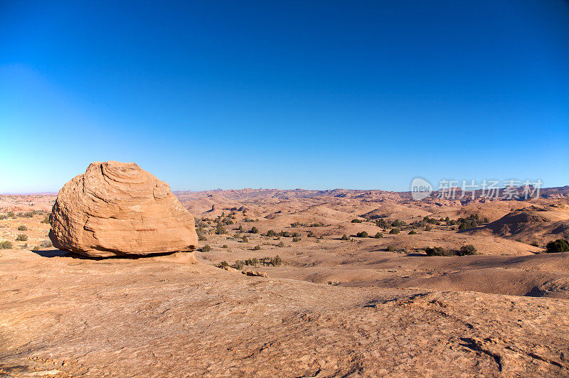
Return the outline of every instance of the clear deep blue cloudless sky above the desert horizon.
[[[0,193],[569,184],[562,0],[0,1]]]

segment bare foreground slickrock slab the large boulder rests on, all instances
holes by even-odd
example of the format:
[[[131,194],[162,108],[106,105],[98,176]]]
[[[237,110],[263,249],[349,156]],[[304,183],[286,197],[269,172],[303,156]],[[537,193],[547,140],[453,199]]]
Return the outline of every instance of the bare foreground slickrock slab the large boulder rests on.
[[[569,374],[563,299],[329,286],[176,256],[60,254],[0,252],[0,375]]]

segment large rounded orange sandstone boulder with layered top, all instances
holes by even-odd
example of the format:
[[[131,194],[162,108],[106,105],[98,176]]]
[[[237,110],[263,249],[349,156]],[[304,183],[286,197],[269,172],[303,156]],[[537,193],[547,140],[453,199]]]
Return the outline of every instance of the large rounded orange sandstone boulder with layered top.
[[[135,163],[95,162],[66,183],[51,210],[53,246],[87,256],[191,251],[192,215],[168,184]]]

